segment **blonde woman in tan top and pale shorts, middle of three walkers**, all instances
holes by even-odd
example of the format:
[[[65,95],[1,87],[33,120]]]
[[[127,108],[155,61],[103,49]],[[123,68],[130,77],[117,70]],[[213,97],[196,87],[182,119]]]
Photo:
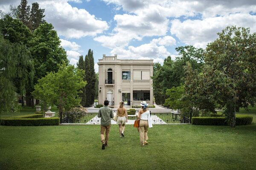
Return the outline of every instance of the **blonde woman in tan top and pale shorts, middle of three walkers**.
[[[117,121],[116,124],[119,125],[119,134],[120,137],[125,137],[124,130],[125,130],[125,122],[128,121],[128,115],[127,115],[127,109],[124,107],[125,102],[120,101],[119,102],[119,108],[117,108],[116,114],[117,114]]]

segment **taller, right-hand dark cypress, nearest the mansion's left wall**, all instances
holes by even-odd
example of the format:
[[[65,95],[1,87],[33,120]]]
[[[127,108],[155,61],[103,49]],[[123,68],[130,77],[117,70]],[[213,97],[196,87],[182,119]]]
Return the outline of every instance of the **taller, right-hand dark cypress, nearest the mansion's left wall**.
[[[95,99],[95,71],[94,71],[94,59],[93,59],[93,51],[89,49],[88,54],[84,59],[85,63],[85,80],[87,81],[87,85],[85,87],[86,91],[86,100],[85,106],[93,105]]]

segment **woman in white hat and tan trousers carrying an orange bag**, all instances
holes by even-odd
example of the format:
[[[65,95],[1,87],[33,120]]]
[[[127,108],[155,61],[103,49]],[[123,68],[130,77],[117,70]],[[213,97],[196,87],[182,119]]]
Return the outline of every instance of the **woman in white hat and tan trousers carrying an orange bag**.
[[[152,120],[150,116],[150,112],[148,111],[147,102],[141,102],[141,109],[138,112],[138,119],[140,120],[139,132],[140,132],[140,144],[144,146],[144,144],[148,144],[148,127],[152,126]]]

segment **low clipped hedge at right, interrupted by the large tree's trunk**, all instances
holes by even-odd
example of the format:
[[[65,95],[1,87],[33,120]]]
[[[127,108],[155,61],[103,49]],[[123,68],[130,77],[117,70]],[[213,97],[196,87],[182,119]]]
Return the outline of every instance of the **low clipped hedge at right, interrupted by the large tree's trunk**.
[[[236,125],[250,125],[253,122],[253,116],[236,115]],[[224,116],[221,117],[192,117],[192,125],[217,125],[227,126],[227,121]]]

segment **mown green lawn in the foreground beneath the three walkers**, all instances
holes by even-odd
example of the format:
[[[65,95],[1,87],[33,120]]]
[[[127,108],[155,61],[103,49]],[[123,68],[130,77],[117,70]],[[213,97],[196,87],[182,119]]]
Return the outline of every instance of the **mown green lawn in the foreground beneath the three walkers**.
[[[27,112],[26,112],[27,113]],[[247,113],[255,115],[255,113]],[[101,150],[99,125],[0,126],[3,170],[255,170],[256,119],[247,126],[153,125],[140,147],[137,129],[112,125]]]

